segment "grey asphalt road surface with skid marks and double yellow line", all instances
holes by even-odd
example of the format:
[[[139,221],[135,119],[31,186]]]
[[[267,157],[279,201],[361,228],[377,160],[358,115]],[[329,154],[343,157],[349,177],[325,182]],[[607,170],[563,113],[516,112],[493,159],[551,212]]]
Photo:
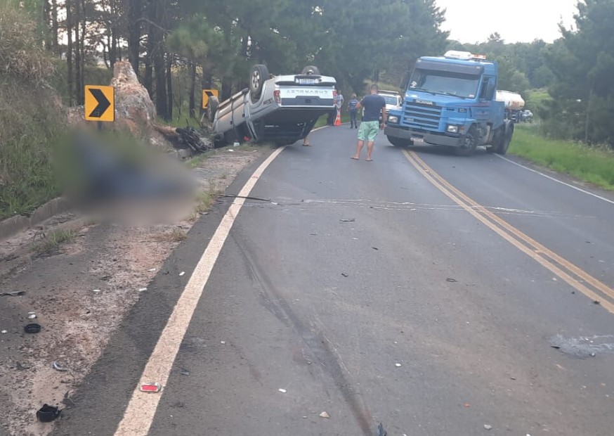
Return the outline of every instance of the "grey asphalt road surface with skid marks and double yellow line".
[[[383,135],[354,161],[355,132],[314,132],[259,177],[250,195],[270,201],[236,217],[148,434],[612,435],[612,195]],[[166,262],[55,435],[115,434],[230,201]]]

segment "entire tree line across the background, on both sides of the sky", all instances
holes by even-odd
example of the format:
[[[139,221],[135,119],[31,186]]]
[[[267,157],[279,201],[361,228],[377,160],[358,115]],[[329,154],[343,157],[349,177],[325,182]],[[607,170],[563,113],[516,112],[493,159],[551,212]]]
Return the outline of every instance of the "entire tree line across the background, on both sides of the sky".
[[[344,91],[366,81],[400,84],[418,56],[445,49],[484,53],[499,63],[499,89],[547,89],[540,115],[549,134],[614,143],[614,0],[581,0],[573,29],[554,44],[448,41],[436,0],[1,0],[29,11],[43,46],[63,64],[69,104],[86,82],[119,59],[133,65],[159,115],[195,115],[200,89],[226,98],[247,85],[249,68],[273,73],[318,65]]]

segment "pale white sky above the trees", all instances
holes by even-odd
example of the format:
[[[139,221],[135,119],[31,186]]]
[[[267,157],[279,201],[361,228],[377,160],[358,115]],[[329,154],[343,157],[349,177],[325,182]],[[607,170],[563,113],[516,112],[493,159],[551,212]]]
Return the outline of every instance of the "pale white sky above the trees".
[[[574,25],[577,0],[436,0],[445,8],[443,30],[450,39],[473,44],[499,32],[508,43],[561,37],[558,23]]]

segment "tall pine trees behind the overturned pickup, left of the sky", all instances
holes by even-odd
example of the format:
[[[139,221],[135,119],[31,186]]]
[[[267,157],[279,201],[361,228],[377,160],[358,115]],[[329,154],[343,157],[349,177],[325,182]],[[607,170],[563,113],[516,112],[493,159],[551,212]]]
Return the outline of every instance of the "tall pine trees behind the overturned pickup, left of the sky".
[[[249,68],[318,65],[347,90],[400,77],[415,58],[440,53],[448,34],[435,0],[25,0],[41,14],[46,49],[65,62],[67,100],[82,104],[92,66],[129,59],[169,119],[197,109],[199,87],[222,98],[247,84]],[[175,90],[176,77],[188,86]]]

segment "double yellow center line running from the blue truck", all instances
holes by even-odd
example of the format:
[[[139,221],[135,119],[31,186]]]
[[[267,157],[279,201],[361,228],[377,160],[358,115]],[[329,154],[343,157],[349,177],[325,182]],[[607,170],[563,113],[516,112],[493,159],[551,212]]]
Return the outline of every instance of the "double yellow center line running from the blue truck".
[[[608,312],[614,314],[614,290],[597,280],[586,271],[569,262],[555,252],[544,247],[544,245],[525,235],[514,226],[497,217],[476,201],[467,197],[464,193],[452,186],[448,181],[437,174],[426,162],[419,158],[415,153],[403,150],[405,157],[410,163],[431,182],[433,186],[448,196],[457,205],[469,212],[478,221],[488,226],[489,229],[504,238],[505,241],[514,245],[521,252],[528,255],[542,267],[551,271],[552,274],[561,278],[570,286],[583,293],[593,301],[599,302]]]

